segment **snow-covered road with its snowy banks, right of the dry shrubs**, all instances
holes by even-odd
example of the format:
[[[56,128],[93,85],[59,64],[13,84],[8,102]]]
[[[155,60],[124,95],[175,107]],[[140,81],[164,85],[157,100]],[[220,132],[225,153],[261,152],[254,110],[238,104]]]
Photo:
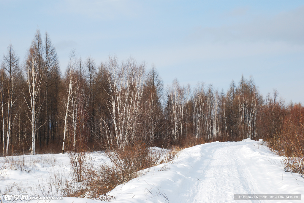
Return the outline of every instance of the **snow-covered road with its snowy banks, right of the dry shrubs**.
[[[280,202],[235,201],[233,194],[304,193],[303,178],[285,172],[280,157],[258,141],[197,145],[158,171],[163,165],[111,191],[115,202]]]

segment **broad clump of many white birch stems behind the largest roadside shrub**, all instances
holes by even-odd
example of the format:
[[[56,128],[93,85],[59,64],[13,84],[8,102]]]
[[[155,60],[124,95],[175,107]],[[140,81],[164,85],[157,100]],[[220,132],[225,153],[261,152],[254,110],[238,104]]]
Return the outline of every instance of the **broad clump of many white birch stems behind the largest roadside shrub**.
[[[144,85],[144,64],[137,65],[133,58],[119,65],[116,57],[110,57],[107,65],[109,84],[109,111],[118,147],[125,147],[135,140]],[[109,129],[108,123],[106,123]],[[109,136],[108,134],[108,136]]]

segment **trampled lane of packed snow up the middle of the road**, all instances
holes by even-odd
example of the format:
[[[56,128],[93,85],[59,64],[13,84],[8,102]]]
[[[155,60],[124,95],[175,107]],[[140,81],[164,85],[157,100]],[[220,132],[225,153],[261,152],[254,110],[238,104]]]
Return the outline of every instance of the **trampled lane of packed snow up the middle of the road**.
[[[199,178],[199,184],[193,184],[186,201],[180,202],[230,202],[233,194],[250,194],[254,186],[240,165],[236,153],[244,144],[222,145],[209,149],[208,165],[199,171],[192,170],[192,179]],[[206,154],[206,155],[207,155]],[[204,157],[202,157],[204,159]],[[235,201],[232,201],[235,202]]]

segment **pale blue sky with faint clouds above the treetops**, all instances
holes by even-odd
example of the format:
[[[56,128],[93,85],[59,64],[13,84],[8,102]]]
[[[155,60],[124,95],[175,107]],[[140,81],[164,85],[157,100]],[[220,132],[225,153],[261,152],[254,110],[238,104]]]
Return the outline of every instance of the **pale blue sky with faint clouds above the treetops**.
[[[0,54],[24,58],[47,31],[61,70],[71,49],[99,64],[109,55],[154,63],[164,83],[226,91],[252,75],[263,95],[304,101],[303,1],[0,1]]]

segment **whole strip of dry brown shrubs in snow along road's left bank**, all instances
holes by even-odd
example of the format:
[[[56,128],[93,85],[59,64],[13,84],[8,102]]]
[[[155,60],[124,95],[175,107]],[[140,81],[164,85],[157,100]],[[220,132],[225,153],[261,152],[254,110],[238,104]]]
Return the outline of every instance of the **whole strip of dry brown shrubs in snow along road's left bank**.
[[[114,197],[107,194],[109,191],[139,177],[144,173],[144,169],[160,163],[172,164],[180,150],[181,147],[173,146],[168,150],[149,148],[145,143],[138,142],[121,149],[105,151],[109,161],[101,165],[96,165],[94,159],[91,159],[91,162],[86,160],[84,152],[68,152],[72,172],[50,173],[48,181],[39,183],[40,190],[47,191],[45,193],[48,195],[111,201]]]

